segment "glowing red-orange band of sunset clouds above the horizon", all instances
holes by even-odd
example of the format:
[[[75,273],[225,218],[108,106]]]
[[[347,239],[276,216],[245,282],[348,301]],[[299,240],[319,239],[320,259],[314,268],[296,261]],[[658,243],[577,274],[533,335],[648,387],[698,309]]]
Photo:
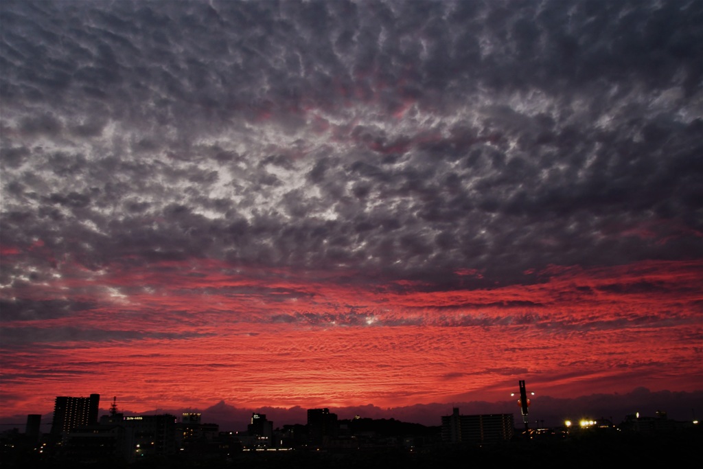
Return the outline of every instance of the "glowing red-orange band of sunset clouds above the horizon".
[[[37,302],[63,290],[97,306],[6,321],[4,401],[20,413],[90,392],[131,411],[216,399],[386,407],[503,400],[526,377],[562,397],[693,391],[703,378],[695,262],[555,269],[532,285],[443,292],[226,267],[164,262],[44,285]]]

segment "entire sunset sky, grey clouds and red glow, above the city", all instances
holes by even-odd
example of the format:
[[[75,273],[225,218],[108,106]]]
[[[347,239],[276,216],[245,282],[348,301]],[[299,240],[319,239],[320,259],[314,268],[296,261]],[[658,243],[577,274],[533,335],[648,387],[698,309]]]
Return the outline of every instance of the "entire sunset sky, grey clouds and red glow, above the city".
[[[0,417],[703,390],[703,2],[0,23]]]

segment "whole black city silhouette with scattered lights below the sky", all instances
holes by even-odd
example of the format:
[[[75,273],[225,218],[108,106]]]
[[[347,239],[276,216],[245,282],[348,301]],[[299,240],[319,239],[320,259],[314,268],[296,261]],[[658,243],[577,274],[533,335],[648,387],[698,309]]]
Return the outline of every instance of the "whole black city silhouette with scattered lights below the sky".
[[[339,467],[354,467],[382,461],[411,469],[465,461],[524,465],[526,456],[543,450],[548,453],[541,461],[568,459],[574,467],[592,465],[593,455],[623,466],[657,461],[678,467],[698,456],[703,431],[695,421],[669,420],[666,412],[658,411],[655,417],[628,416],[619,428],[601,418],[514,438],[512,414],[463,416],[455,408],[441,417],[441,426],[432,427],[393,418],[337,420],[329,409],[309,409],[307,425],[284,425],[282,431],[273,432],[273,423],[264,414],[252,413],[249,432],[220,432],[217,424],[202,423],[200,413],[183,413],[180,422],[169,414],[124,416],[117,411],[116,399],[99,423],[75,426],[93,418],[98,399],[98,394],[56,398],[53,428],[60,435],[56,445],[37,445],[27,437],[38,432],[38,415],[27,416],[27,435],[17,428],[0,432],[2,467],[122,468],[137,463],[155,469],[205,465],[312,469],[335,467],[337,462]]]

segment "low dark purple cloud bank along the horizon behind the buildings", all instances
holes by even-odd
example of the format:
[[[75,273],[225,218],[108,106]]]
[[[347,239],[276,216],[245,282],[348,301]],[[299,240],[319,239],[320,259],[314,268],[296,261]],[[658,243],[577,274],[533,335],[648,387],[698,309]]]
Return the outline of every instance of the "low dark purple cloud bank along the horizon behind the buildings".
[[[622,396],[594,395],[592,397],[582,397],[580,399],[553,399],[551,397],[533,397],[535,404],[530,406],[531,413],[527,418],[531,428],[538,427],[560,427],[565,420],[580,420],[604,418],[612,421],[614,425],[622,423],[628,416],[641,414],[643,416],[655,416],[657,413],[665,413],[673,420],[694,421],[699,418],[700,405],[703,402],[702,393],[669,393],[650,392],[639,389]],[[87,399],[87,397],[84,397]],[[105,405],[110,402],[110,407]],[[135,412],[125,406],[119,398],[101,400],[99,415],[105,416],[112,413],[112,406],[124,416],[148,416],[159,414],[171,414],[181,416],[184,413],[199,413],[203,421],[220,425],[224,430],[246,430],[252,413],[264,413],[269,416],[269,420],[274,425],[295,425],[304,423],[307,419],[309,409],[320,409],[322,407],[304,408],[295,406],[290,409],[277,408],[275,406],[262,406],[259,408],[247,409],[226,404],[220,401],[207,408],[193,408],[192,406],[181,409],[164,409],[154,406],[150,411]],[[47,403],[49,405],[49,403]],[[51,401],[53,409],[53,400]],[[515,399],[509,401],[491,402],[454,402],[449,404],[427,404],[425,406],[408,406],[382,409],[378,406],[368,404],[366,406],[352,406],[346,408],[328,407],[342,419],[352,419],[354,417],[372,419],[394,419],[406,423],[419,423],[425,426],[441,425],[441,417],[451,415],[453,409],[461,409],[466,414],[501,414],[511,413],[515,416],[515,427],[522,426],[520,406]],[[41,429],[48,433],[53,419],[53,410],[39,414],[41,416]],[[26,416],[17,414],[11,418],[0,419],[0,430],[11,428],[24,428],[24,418]]]

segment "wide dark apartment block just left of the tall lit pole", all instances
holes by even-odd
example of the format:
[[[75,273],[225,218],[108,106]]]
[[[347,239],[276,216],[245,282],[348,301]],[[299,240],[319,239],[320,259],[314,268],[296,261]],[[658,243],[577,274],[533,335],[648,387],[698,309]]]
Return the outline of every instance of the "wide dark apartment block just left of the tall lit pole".
[[[441,437],[446,443],[497,443],[508,441],[514,432],[512,413],[462,416],[453,409],[441,418]]]

